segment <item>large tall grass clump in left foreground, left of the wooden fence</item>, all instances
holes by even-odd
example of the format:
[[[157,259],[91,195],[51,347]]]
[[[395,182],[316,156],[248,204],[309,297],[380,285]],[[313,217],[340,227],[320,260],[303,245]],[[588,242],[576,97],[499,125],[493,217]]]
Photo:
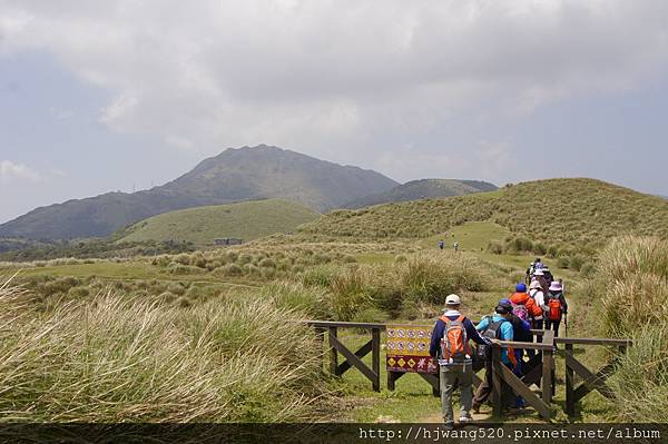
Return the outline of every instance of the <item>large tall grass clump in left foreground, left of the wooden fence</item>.
[[[325,395],[313,333],[250,296],[193,308],[106,293],[39,312],[0,289],[0,415],[30,422],[289,422]]]

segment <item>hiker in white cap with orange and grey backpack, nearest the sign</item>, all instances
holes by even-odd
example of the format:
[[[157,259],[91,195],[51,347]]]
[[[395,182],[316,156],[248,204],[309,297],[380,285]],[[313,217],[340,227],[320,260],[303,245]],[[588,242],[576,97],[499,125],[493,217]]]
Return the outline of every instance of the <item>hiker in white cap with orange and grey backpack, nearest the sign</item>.
[[[491,346],[491,341],[481,337],[473,323],[459,312],[460,304],[458,295],[445,298],[446,310],[434,325],[429,348],[429,354],[438,359],[440,366],[443,421],[449,428],[454,427],[452,394],[458,385],[462,404],[460,423],[472,420],[473,352],[469,339],[479,345]]]

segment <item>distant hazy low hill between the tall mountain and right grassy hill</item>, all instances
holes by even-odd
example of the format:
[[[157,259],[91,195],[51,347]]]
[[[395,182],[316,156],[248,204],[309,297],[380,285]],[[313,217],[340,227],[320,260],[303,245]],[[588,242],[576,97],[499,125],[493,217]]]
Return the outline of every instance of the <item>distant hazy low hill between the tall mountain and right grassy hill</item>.
[[[480,180],[421,179],[347,203],[343,208],[363,208],[372,205],[390,204],[416,199],[463,196],[472,193],[493,191],[495,185]]]

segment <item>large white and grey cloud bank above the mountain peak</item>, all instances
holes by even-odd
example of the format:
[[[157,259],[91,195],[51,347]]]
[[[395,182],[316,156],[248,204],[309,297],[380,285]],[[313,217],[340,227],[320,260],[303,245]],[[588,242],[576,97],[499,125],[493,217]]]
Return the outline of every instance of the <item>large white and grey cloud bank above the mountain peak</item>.
[[[363,149],[397,171],[402,156],[449,170],[483,149],[423,151],[458,145],[432,140],[409,156],[416,135],[504,139],[479,128],[668,67],[668,2],[649,0],[0,0],[0,53],[46,50],[114,91],[99,117],[114,130],[203,154],[267,142],[354,162]]]

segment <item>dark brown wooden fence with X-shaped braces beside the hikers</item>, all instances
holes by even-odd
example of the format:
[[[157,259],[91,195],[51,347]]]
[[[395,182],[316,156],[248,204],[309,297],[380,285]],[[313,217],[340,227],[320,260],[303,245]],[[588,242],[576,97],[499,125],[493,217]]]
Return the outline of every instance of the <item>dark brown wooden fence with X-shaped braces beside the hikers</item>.
[[[331,320],[304,320],[307,325],[315,328],[317,337],[324,344],[324,337],[327,336],[330,345],[328,361],[330,373],[336,376],[343,375],[348,369],[357,368],[371,383],[375,392],[381,391],[381,333],[385,330],[385,324],[375,323],[343,323]],[[371,338],[355,352],[347,348],[338,337],[338,330],[342,328],[356,328],[371,334]],[[566,338],[554,337],[553,330],[531,330],[537,342],[520,343],[501,341],[494,344],[492,348],[492,405],[494,415],[501,416],[503,412],[502,391],[504,384],[510,386],[512,392],[522,396],[544,420],[552,417],[552,397],[556,393],[554,378],[554,354],[558,352],[558,345],[563,345],[563,356],[566,361],[566,413],[576,414],[576,404],[592,391],[599,392],[607,398],[615,399],[613,392],[606,385],[606,379],[615,371],[618,364],[619,354],[626,353],[631,345],[630,339],[609,339],[609,338]],[[573,353],[574,346],[602,345],[617,347],[619,354],[612,354],[610,361],[596,372],[588,369],[580,363]],[[501,351],[522,348],[536,351],[534,356],[525,362],[525,372],[522,376],[517,376],[501,361]],[[362,358],[371,353],[371,367]],[[343,355],[345,361],[338,363],[338,355]],[[484,368],[484,367],[483,367]],[[480,368],[478,369],[480,371]],[[387,388],[395,389],[396,381],[405,373],[387,372]],[[419,375],[432,386],[434,395],[440,394],[439,374],[419,373]],[[577,377],[581,378],[576,387]],[[478,385],[482,379],[474,375],[473,385]],[[537,385],[540,388],[536,394],[530,387]]]

